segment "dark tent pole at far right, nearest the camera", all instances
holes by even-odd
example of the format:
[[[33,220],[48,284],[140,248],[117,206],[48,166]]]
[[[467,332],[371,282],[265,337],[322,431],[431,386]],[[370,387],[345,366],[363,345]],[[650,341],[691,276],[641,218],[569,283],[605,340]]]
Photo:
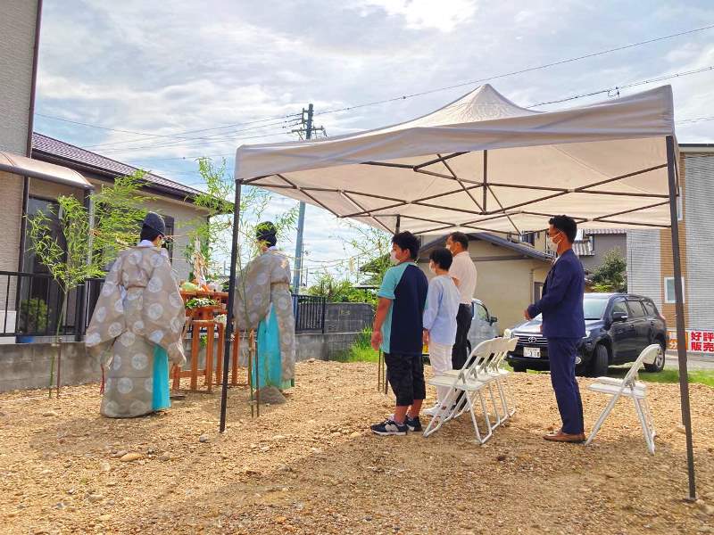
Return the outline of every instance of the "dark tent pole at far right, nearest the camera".
[[[692,416],[689,409],[689,377],[686,369],[685,306],[682,292],[682,259],[679,251],[679,225],[677,215],[677,175],[675,140],[667,136],[667,171],[669,178],[669,218],[672,229],[672,260],[675,276],[675,309],[677,316],[677,357],[679,359],[679,397],[682,406],[682,423],[686,434],[686,464],[689,473],[689,497],[696,499],[694,483],[694,449],[692,444]]]

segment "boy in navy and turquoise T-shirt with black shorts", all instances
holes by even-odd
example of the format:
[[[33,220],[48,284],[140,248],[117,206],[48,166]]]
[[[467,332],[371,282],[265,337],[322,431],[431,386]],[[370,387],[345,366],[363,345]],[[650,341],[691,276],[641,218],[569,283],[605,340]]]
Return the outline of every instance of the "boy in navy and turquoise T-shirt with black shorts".
[[[419,409],[427,388],[421,361],[422,315],[427,300],[427,276],[415,263],[419,240],[411,232],[392,238],[393,268],[379,288],[379,303],[372,326],[372,348],[385,354],[386,379],[394,395],[394,415],[370,427],[378,435],[421,431]]]

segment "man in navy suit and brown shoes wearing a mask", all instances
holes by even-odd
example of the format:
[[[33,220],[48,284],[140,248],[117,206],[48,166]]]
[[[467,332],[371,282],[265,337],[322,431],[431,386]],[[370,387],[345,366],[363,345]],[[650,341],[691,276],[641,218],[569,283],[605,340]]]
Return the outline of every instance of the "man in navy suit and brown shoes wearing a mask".
[[[548,224],[548,238],[558,258],[545,277],[543,299],[529,306],[524,315],[526,319],[533,319],[543,314],[543,334],[548,341],[551,383],[563,422],[559,432],[547,434],[544,439],[583,442],[583,402],[575,378],[575,358],[577,342],[585,336],[585,272],[573,252],[573,242],[577,235],[576,222],[568,216],[555,216]]]

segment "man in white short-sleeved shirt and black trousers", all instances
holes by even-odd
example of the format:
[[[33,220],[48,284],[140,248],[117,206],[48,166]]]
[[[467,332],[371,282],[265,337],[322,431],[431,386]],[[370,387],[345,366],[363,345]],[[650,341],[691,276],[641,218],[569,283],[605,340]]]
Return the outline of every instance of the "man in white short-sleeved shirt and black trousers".
[[[452,267],[449,275],[456,287],[459,288],[461,301],[459,313],[456,315],[456,342],[452,348],[453,369],[461,369],[469,357],[467,347],[473,306],[471,300],[476,290],[476,266],[469,255],[469,237],[462,232],[453,232],[446,238],[446,248],[452,251]]]

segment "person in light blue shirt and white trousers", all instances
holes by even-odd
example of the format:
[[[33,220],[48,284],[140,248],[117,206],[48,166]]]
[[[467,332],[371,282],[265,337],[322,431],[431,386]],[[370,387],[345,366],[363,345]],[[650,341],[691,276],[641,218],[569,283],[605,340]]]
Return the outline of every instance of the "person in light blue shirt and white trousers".
[[[424,343],[429,346],[429,361],[435,374],[452,369],[452,346],[456,341],[456,315],[459,313],[461,294],[449,276],[452,253],[443,247],[431,251],[429,270],[436,276],[429,281],[427,304],[422,325]],[[436,388],[436,404],[425,410],[429,416],[439,416],[446,407],[448,387]]]

